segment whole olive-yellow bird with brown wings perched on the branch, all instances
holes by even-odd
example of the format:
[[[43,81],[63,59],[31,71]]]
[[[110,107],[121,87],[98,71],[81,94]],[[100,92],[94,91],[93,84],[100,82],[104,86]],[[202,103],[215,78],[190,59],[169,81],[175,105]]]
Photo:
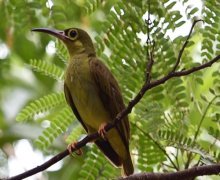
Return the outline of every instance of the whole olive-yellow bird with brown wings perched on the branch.
[[[47,33],[64,43],[69,52],[64,78],[67,104],[87,134],[99,132],[100,138],[94,143],[107,159],[116,167],[122,167],[124,176],[133,174],[128,117],[108,132],[104,130],[108,123],[114,122],[125,104],[116,78],[97,57],[89,34],[80,28],[34,28],[32,31]]]

